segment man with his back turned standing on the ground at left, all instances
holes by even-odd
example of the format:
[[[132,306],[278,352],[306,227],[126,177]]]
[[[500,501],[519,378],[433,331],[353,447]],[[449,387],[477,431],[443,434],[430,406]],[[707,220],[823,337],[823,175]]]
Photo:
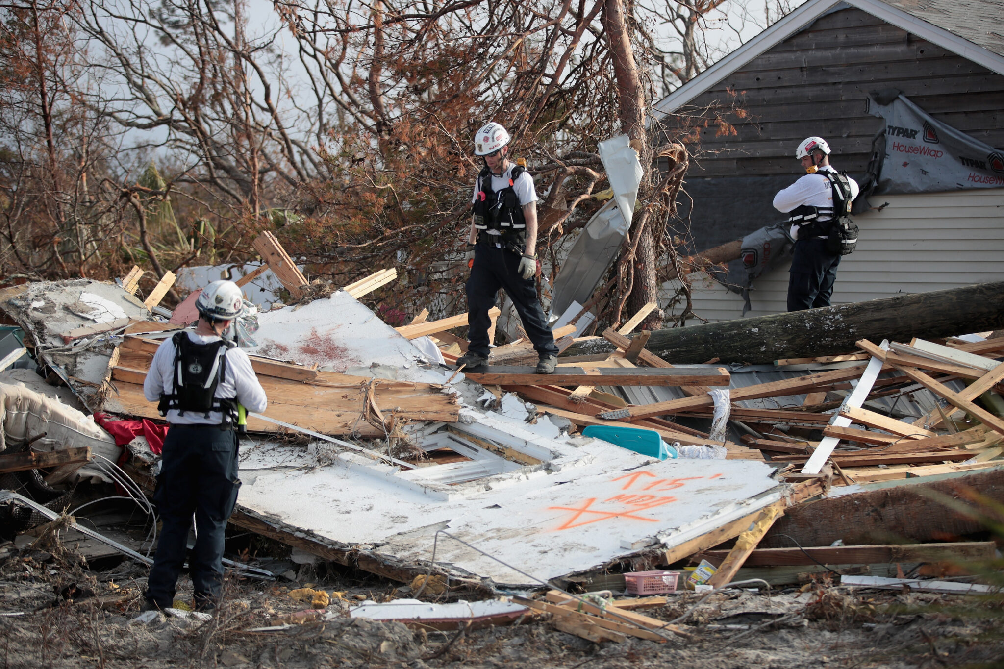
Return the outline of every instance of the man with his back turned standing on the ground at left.
[[[145,611],[174,606],[193,514],[198,537],[189,564],[195,607],[216,607],[223,581],[224,530],[241,484],[238,405],[260,412],[267,403],[247,353],[223,338],[244,310],[241,289],[232,281],[214,281],[195,305],[195,332],[179,332],[161,344],[143,384],[147,399],[160,402],[171,425],[154,493],[163,528]]]

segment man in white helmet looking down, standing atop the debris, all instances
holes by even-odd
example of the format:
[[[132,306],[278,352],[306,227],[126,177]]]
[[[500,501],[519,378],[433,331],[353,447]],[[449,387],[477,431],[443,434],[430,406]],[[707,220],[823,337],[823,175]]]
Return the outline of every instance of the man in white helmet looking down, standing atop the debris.
[[[538,374],[551,374],[558,347],[537,299],[537,194],[533,179],[508,158],[509,133],[488,123],[474,135],[474,153],[485,168],[474,185],[474,220],[467,237],[467,324],[470,346],[459,360],[470,371],[488,366],[488,311],[504,288],[539,356]],[[471,264],[473,261],[473,265]]]

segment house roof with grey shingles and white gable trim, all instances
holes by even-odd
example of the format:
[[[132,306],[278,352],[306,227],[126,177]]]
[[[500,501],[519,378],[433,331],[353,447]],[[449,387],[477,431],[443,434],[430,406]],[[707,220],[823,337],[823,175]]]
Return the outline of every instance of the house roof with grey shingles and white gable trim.
[[[1004,74],[1004,4],[994,0],[809,0],[653,105],[669,114],[827,12],[855,7]]]

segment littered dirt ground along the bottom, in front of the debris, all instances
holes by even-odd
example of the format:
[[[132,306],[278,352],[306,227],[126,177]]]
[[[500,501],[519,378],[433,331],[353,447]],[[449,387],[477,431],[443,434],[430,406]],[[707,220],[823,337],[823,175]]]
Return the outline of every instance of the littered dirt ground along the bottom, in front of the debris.
[[[698,596],[680,594],[666,607],[644,613],[665,620],[689,613],[683,626],[691,638],[662,644],[631,638],[600,646],[557,631],[546,616],[459,632],[353,620],[347,614],[350,605],[408,597],[408,589],[344,568],[321,567],[300,570],[313,579],[309,583],[228,579],[225,603],[210,620],[160,613],[139,617],[146,568],[121,562],[88,571],[72,547],[50,542],[44,549],[18,549],[8,543],[0,546],[0,662],[4,667],[147,669],[1004,666],[1000,599],[848,593],[810,585],[770,594],[725,591],[696,606]],[[188,579],[179,585],[178,599],[191,601]],[[330,595],[325,612],[299,613],[310,605],[293,600],[289,592],[303,586]],[[289,622],[300,624],[255,631]]]

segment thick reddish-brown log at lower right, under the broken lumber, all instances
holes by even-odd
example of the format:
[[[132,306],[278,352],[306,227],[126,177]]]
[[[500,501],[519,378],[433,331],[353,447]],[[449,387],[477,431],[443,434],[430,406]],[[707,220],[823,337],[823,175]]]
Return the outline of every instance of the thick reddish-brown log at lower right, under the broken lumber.
[[[960,514],[931,493],[965,498],[978,492],[1004,498],[1004,469],[976,471],[956,478],[816,499],[785,512],[760,543],[762,548],[923,544],[964,537],[986,528],[978,519]],[[710,547],[709,547],[710,548]]]

